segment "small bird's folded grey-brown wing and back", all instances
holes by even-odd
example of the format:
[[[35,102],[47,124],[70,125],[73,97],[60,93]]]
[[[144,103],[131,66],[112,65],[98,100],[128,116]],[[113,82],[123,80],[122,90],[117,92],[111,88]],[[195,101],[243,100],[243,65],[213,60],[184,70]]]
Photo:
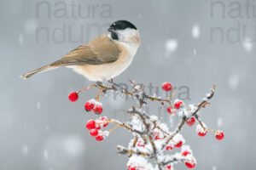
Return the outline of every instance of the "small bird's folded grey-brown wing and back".
[[[68,65],[102,65],[119,59],[120,49],[117,43],[108,38],[108,35],[97,37],[93,41],[73,49],[51,64],[51,66]]]

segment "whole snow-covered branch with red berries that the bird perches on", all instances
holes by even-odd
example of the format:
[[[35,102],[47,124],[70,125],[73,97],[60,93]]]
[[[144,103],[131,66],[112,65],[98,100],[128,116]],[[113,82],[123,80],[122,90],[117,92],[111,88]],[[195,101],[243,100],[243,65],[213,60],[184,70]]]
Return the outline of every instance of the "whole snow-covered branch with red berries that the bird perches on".
[[[96,115],[100,115],[102,114],[102,103],[99,101],[100,94],[107,94],[108,90],[117,93],[119,93],[119,91],[114,86],[107,87],[97,83],[79,92],[69,94],[69,100],[71,102],[77,101],[79,99],[79,93],[91,87],[96,87],[100,90],[96,99],[90,99],[85,103],[84,110],[88,112],[93,111]],[[163,83],[162,89],[166,92],[174,91],[172,84],[169,82]],[[174,164],[177,161],[183,162],[188,168],[194,168],[196,159],[189,145],[185,144],[185,139],[183,139],[183,135],[181,134],[183,125],[185,124],[189,127],[193,127],[195,123],[198,122],[195,129],[200,137],[204,137],[208,132],[212,132],[215,133],[216,139],[224,139],[224,133],[222,131],[213,131],[207,128],[206,124],[201,122],[201,116],[197,114],[201,108],[209,104],[208,100],[212,99],[215,93],[215,86],[212,88],[212,93],[207,94],[207,98],[204,98],[198,105],[185,105],[180,99],[175,99],[172,102],[172,96],[167,99],[163,99],[159,96],[150,96],[144,93],[143,84],[138,84],[134,81],[131,81],[131,89],[124,89],[120,93],[137,100],[137,107],[133,106],[127,111],[127,113],[131,115],[131,119],[127,122],[119,122],[118,120],[108,119],[104,116],[96,120],[89,120],[86,123],[86,128],[90,131],[90,136],[94,137],[96,141],[106,139],[108,134],[118,127],[124,127],[132,132],[134,139],[130,141],[128,148],[123,146],[117,147],[119,154],[129,154],[129,161],[127,163],[128,170],[173,170]],[[144,105],[148,105],[148,101],[145,101],[146,99],[159,101],[162,105],[167,104],[166,111],[171,118],[172,116],[182,117],[174,131],[169,130],[167,124],[160,121],[161,117],[149,115],[144,110]],[[108,123],[114,123],[116,127],[113,127],[109,131],[103,131],[102,129],[107,127]],[[170,155],[173,151],[177,152]],[[153,165],[148,161],[148,157],[158,161]]]

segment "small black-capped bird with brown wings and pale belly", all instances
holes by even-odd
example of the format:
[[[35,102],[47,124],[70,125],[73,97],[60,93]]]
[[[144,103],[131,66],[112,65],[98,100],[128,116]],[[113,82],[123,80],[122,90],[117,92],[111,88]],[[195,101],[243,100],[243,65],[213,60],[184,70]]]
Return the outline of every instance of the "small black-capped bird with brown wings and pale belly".
[[[60,67],[72,68],[92,82],[106,82],[119,76],[131,65],[141,40],[137,27],[127,20],[117,20],[108,34],[73,49],[55,62],[22,75],[24,79]]]

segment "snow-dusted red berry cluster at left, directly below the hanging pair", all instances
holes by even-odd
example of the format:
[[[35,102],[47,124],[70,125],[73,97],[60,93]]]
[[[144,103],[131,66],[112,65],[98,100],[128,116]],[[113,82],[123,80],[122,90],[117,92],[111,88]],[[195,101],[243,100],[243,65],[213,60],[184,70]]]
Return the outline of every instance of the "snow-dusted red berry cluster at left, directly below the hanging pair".
[[[102,131],[103,127],[108,126],[108,118],[106,116],[100,117],[96,121],[89,120],[86,123],[86,128],[90,130],[90,136],[95,137],[96,141],[102,141],[108,136],[108,131]]]

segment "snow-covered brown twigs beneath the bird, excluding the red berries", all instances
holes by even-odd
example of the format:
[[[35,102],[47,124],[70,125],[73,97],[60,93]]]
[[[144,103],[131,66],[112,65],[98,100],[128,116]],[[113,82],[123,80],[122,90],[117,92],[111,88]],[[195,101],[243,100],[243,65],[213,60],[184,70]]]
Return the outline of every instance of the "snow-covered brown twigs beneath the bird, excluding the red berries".
[[[173,94],[169,98],[163,99],[159,96],[150,96],[150,95],[146,94],[143,91],[143,84],[137,84],[134,81],[131,81],[131,89],[129,89],[129,90],[126,88],[120,87],[118,84],[116,84],[114,82],[112,82],[112,84],[113,85],[111,87],[108,87],[108,86],[103,85],[101,82],[98,82],[88,88],[84,88],[83,90],[80,90],[79,93],[83,92],[84,90],[87,90],[89,88],[92,88],[92,87],[100,88],[100,91],[96,97],[96,100],[97,100],[96,105],[98,105],[99,100],[100,100],[99,94],[101,94],[101,93],[106,94],[108,91],[119,92],[119,89],[121,88],[120,92],[122,94],[127,94],[128,96],[130,96],[131,98],[133,98],[137,101],[137,107],[132,106],[131,110],[127,111],[127,113],[131,114],[131,116],[136,116],[137,119],[131,119],[130,122],[126,122],[126,123],[119,122],[114,119],[99,122],[99,123],[103,123],[103,124],[106,124],[106,123],[108,124],[111,122],[117,124],[117,126],[113,127],[111,130],[109,130],[109,132],[107,131],[108,133],[113,132],[113,130],[115,130],[117,127],[124,127],[125,129],[132,132],[133,135],[135,136],[134,139],[131,140],[131,142],[130,142],[129,149],[125,149],[125,147],[123,147],[123,146],[117,146],[117,150],[119,150],[118,151],[119,154],[128,154],[128,157],[131,157],[132,155],[137,155],[137,156],[153,158],[155,163],[157,164],[157,167],[159,170],[161,170],[163,168],[166,169],[166,167],[165,167],[166,165],[171,164],[176,161],[183,161],[186,163],[191,162],[191,161],[194,162],[195,158],[194,158],[194,156],[192,156],[192,151],[190,149],[189,149],[190,150],[189,154],[191,156],[189,156],[189,157],[184,157],[181,155],[182,153],[179,153],[176,156],[166,156],[166,159],[163,159],[165,157],[164,151],[166,150],[167,144],[169,144],[170,141],[172,141],[173,143],[176,142],[173,139],[176,138],[177,133],[181,132],[183,125],[191,116],[195,117],[195,119],[199,122],[201,127],[204,128],[204,130],[218,133],[216,131],[208,129],[207,127],[204,127],[204,124],[203,124],[203,122],[201,122],[200,117],[198,115],[198,112],[201,110],[201,108],[205,108],[206,105],[210,104],[208,102],[208,100],[212,99],[212,97],[215,94],[215,85],[213,85],[211,94],[207,94],[207,97],[204,98],[197,105],[197,107],[195,108],[195,110],[193,110],[193,112],[191,111],[191,109],[189,110],[191,113],[189,116],[185,115],[183,113],[181,121],[177,124],[177,127],[175,128],[175,130],[173,132],[170,132],[169,130],[167,130],[167,128],[165,126],[162,126],[164,124],[160,122],[160,117],[150,116],[146,112],[144,112],[143,105],[148,105],[145,100],[149,99],[151,101],[159,101],[159,102],[161,102],[162,105],[164,105],[166,102],[171,108],[173,108],[173,106],[171,105],[171,98],[172,98]],[[168,85],[168,83],[165,83],[165,85],[163,85],[163,87],[166,86],[166,84]],[[170,83],[169,83],[169,86],[172,87],[172,85]],[[165,88],[163,88],[163,89],[165,90]],[[170,89],[172,89],[172,88],[170,88]],[[181,101],[179,101],[179,102],[181,102]],[[174,105],[176,106],[175,103],[174,103]],[[88,110],[91,110],[91,109],[89,108]],[[138,119],[139,119],[139,121],[137,121]],[[140,128],[136,127],[137,123],[138,123],[138,127],[142,126],[142,130]],[[102,126],[102,127],[104,127],[104,126]],[[99,131],[99,133],[102,133],[102,131]],[[157,135],[161,135],[163,138],[155,138],[154,133],[158,133]],[[94,134],[94,133],[92,133],[92,134]],[[97,140],[101,141],[102,139],[104,139],[104,138],[99,138]],[[142,147],[142,146],[140,144],[137,144],[138,142],[141,142],[142,140],[144,141],[144,144],[146,144],[145,149],[147,149],[147,150],[145,150],[145,151],[144,150],[141,151],[141,149],[139,147]],[[157,140],[160,140],[160,142],[157,142]],[[145,147],[145,145],[143,147]],[[180,147],[180,146],[176,146],[176,147]],[[193,166],[195,166],[195,164]]]

